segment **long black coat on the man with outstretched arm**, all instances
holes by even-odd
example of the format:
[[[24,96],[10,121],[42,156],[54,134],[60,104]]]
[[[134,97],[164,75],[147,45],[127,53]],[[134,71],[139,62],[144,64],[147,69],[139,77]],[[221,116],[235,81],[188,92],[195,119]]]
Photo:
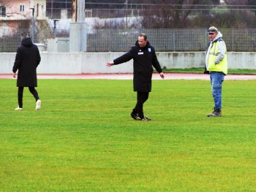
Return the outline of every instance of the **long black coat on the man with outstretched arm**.
[[[122,64],[133,59],[133,90],[150,92],[153,67],[157,72],[162,72],[161,66],[157,60],[154,47],[147,42],[145,47],[140,47],[138,41],[128,53],[116,58],[115,65]]]

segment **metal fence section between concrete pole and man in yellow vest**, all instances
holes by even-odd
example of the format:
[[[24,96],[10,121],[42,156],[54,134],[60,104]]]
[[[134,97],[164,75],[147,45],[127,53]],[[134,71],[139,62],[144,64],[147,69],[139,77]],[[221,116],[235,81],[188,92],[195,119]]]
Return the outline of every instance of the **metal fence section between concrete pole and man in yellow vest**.
[[[157,51],[200,51],[207,45],[206,29],[97,30],[89,34],[88,51],[127,51],[145,33]]]

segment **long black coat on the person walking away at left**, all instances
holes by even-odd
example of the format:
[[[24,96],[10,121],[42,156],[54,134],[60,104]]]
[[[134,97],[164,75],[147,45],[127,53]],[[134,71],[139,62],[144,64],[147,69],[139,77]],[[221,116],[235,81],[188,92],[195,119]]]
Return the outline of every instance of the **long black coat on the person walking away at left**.
[[[17,87],[37,87],[37,66],[41,61],[37,45],[23,39],[17,49],[12,72],[17,72]]]

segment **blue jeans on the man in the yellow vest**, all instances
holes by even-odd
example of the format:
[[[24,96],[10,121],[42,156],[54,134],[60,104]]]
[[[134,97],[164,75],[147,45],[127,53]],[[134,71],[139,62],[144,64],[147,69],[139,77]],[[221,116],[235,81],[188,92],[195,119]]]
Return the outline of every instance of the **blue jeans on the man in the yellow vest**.
[[[214,98],[214,110],[222,109],[222,82],[225,74],[222,72],[211,72],[211,93]]]

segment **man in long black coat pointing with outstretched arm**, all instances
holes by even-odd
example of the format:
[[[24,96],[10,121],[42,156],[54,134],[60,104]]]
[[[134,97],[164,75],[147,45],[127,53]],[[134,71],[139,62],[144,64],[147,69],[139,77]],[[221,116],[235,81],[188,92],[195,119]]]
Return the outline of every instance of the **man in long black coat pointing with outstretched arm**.
[[[133,59],[133,90],[137,91],[137,104],[132,110],[131,117],[135,120],[151,120],[143,115],[143,103],[148,99],[151,91],[153,67],[157,69],[162,79],[165,77],[157,60],[157,55],[146,37],[140,34],[135,46],[128,53],[121,55],[114,61],[107,63],[107,66],[122,64]]]

